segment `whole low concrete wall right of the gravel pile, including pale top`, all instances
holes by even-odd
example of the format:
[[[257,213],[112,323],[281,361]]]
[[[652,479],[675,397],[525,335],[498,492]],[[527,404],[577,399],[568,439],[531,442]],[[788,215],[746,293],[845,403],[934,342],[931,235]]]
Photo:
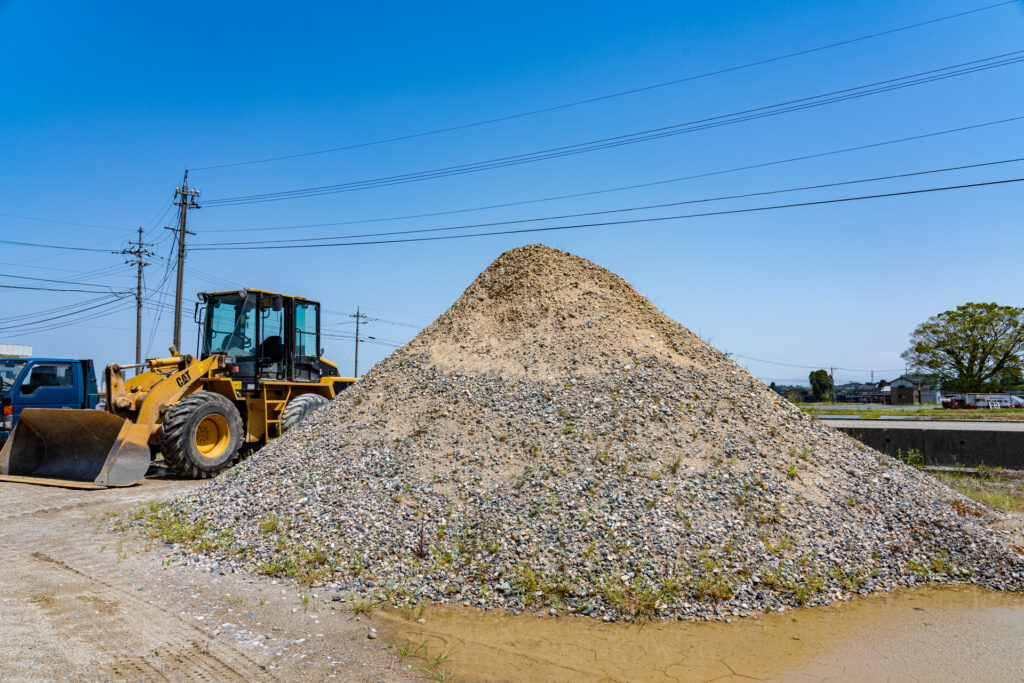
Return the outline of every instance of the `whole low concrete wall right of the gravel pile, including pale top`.
[[[925,465],[1024,469],[1024,423],[946,420],[823,420],[891,456],[918,451]]]

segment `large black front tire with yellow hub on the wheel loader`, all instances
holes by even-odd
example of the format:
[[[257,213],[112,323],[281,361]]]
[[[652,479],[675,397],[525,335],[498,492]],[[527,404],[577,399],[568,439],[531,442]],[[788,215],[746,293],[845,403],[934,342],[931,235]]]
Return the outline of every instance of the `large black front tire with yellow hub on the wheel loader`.
[[[234,403],[219,393],[197,391],[167,411],[160,443],[168,467],[206,479],[238,462],[244,437]]]

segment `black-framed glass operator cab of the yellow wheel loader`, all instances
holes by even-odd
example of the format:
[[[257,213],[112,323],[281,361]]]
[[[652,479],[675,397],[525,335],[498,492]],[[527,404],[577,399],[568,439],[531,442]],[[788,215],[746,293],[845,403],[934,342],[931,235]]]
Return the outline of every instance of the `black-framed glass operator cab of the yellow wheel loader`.
[[[319,303],[262,290],[204,293],[200,299],[200,357],[233,358],[230,376],[244,389],[338,376],[319,357]]]

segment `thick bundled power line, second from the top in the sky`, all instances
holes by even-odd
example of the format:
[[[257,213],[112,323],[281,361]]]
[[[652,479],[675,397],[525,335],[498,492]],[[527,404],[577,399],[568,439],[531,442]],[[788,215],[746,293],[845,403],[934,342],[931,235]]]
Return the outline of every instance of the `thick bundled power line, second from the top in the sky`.
[[[791,99],[782,102],[776,102],[774,104],[767,104],[749,110],[742,110],[739,112],[733,112],[731,114],[723,114],[703,119],[696,119],[693,121],[673,124],[670,126],[663,126],[659,128],[651,128],[647,130],[636,131],[633,133],[625,133],[612,137],[589,140],[586,142],[577,142],[557,147],[550,147],[547,150],[539,150],[530,153],[512,155],[509,157],[500,157],[497,159],[490,159],[486,161],[472,162],[468,164],[461,164],[455,166],[446,166],[427,171],[418,171],[414,173],[406,173],[400,175],[384,176],[368,180],[356,180],[350,182],[336,183],[330,185],[318,185],[313,187],[281,190],[274,193],[244,195],[239,197],[224,198],[221,200],[209,200],[206,202],[206,206],[208,207],[237,206],[240,204],[256,204],[264,202],[276,202],[289,199],[319,197],[324,195],[332,195],[337,193],[355,191],[360,189],[384,187],[395,184],[417,182],[421,180],[429,180],[429,179],[449,177],[455,175],[464,175],[467,173],[476,173],[479,171],[493,170],[496,168],[506,168],[509,166],[517,166],[520,164],[528,164],[538,161],[546,161],[550,159],[574,156],[579,154],[596,152],[600,150],[608,150],[611,147],[617,147],[626,144],[635,144],[637,142],[660,139],[664,137],[682,135],[685,133],[708,130],[711,128],[718,128],[721,126],[727,126],[735,123],[743,123],[746,121],[753,121],[766,117],[778,116],[781,114],[787,114],[791,112],[822,106],[824,104],[830,104],[839,101],[846,101],[849,99],[856,99],[859,97],[865,97],[868,95],[879,94],[883,92],[890,92],[892,90],[899,90],[902,88],[912,87],[924,83],[932,83],[935,81],[941,81],[948,78],[964,76],[967,74],[974,74],[981,71],[987,71],[989,69],[997,69],[1000,67],[1019,63],[1021,61],[1024,61],[1024,50],[1015,50],[1013,52],[1006,52],[1004,54],[984,57],[982,59],[974,59],[972,61],[966,61],[957,65],[952,65],[949,67],[942,67],[940,69],[933,69],[926,72],[920,72],[918,74],[911,74],[909,76],[901,76],[898,78],[887,79],[884,81],[877,81],[874,83],[854,86],[851,88],[834,90],[818,95],[811,95],[808,97]]]

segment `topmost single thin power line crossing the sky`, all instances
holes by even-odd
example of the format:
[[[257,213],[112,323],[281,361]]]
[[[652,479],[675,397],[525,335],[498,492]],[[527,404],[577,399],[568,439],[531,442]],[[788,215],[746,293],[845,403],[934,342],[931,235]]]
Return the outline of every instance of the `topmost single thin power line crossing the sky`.
[[[687,83],[687,82],[690,82],[690,81],[697,81],[697,80],[700,80],[700,79],[712,78],[712,77],[715,77],[715,76],[721,76],[723,74],[729,74],[729,73],[741,71],[741,70],[744,70],[744,69],[751,69],[753,67],[760,67],[760,66],[772,63],[772,62],[775,62],[775,61],[782,61],[784,59],[792,59],[794,57],[804,56],[804,55],[807,55],[807,54],[813,54],[815,52],[820,52],[822,50],[827,50],[827,49],[831,49],[831,48],[835,48],[835,47],[842,47],[844,45],[851,45],[853,43],[857,43],[857,42],[860,42],[860,41],[870,40],[872,38],[880,38],[882,36],[889,36],[889,35],[892,35],[892,34],[895,34],[895,33],[900,33],[900,32],[903,32],[903,31],[909,31],[911,29],[918,29],[918,28],[921,28],[921,27],[924,27],[924,26],[929,26],[929,25],[932,25],[932,24],[938,24],[940,22],[947,22],[947,20],[950,20],[950,19],[954,19],[954,18],[959,18],[959,17],[963,17],[963,16],[967,16],[967,15],[970,15],[970,14],[975,14],[975,13],[982,12],[982,11],[985,11],[985,10],[988,10],[988,9],[994,9],[996,7],[1002,7],[1005,5],[1011,5],[1011,4],[1014,4],[1016,1],[1017,0],[1007,0],[1006,2],[997,2],[995,4],[985,5],[985,6],[982,6],[982,7],[977,7],[975,9],[969,9],[969,10],[966,10],[966,11],[963,11],[963,12],[956,12],[954,14],[947,14],[945,16],[939,16],[939,17],[933,18],[933,19],[927,19],[927,20],[924,20],[924,22],[918,22],[916,24],[910,24],[910,25],[907,25],[907,26],[897,27],[895,29],[889,29],[887,31],[880,31],[880,32],[867,34],[867,35],[864,35],[864,36],[858,36],[856,38],[849,38],[847,40],[842,40],[842,41],[838,41],[838,42],[835,42],[835,43],[827,43],[825,45],[819,45],[817,47],[812,47],[812,48],[807,48],[807,49],[803,49],[803,50],[798,50],[796,52],[788,52],[788,53],[780,54],[780,55],[777,55],[777,56],[774,56],[774,57],[766,57],[766,58],[763,58],[763,59],[758,59],[756,61],[749,61],[746,63],[737,65],[735,67],[727,67],[727,68],[718,69],[718,70],[715,70],[715,71],[705,72],[702,74],[696,74],[696,75],[693,75],[693,76],[686,76],[686,77],[683,77],[683,78],[674,79],[674,80],[671,80],[671,81],[664,81],[662,83],[654,83],[654,84],[651,84],[651,85],[641,86],[641,87],[638,87],[638,88],[630,88],[628,90],[620,90],[617,92],[611,92],[611,93],[607,93],[607,94],[603,94],[603,95],[597,95],[597,96],[588,97],[588,98],[585,98],[585,99],[578,99],[578,100],[573,100],[573,101],[569,101],[569,102],[564,102],[564,103],[561,103],[561,104],[555,104],[555,105],[552,105],[552,106],[545,106],[545,108],[530,110],[530,111],[526,111],[526,112],[519,112],[517,114],[509,114],[509,115],[505,115],[505,116],[495,117],[495,118],[492,118],[492,119],[484,119],[484,120],[481,120],[481,121],[474,121],[472,123],[459,124],[459,125],[455,125],[455,126],[446,126],[446,127],[443,127],[443,128],[435,128],[433,130],[421,131],[419,133],[410,133],[410,134],[406,134],[406,135],[396,135],[396,136],[393,136],[393,137],[385,137],[385,138],[380,138],[380,139],[376,139],[376,140],[370,140],[368,142],[357,142],[357,143],[353,143],[353,144],[347,144],[347,145],[342,145],[342,146],[330,147],[330,148],[327,148],[327,150],[317,150],[317,151],[314,151],[314,152],[303,152],[303,153],[299,153],[299,154],[281,155],[281,156],[278,156],[278,157],[267,157],[267,158],[264,158],[264,159],[255,159],[255,160],[251,160],[251,161],[232,162],[232,163],[226,163],[226,164],[215,164],[215,165],[210,165],[210,166],[200,166],[200,167],[194,168],[193,170],[194,171],[206,171],[206,170],[213,170],[213,169],[220,169],[220,168],[230,168],[230,167],[236,167],[236,166],[250,166],[250,165],[253,165],[253,164],[265,164],[265,163],[268,163],[268,162],[283,161],[283,160],[286,160],[286,159],[299,159],[299,158],[302,158],[302,157],[313,157],[313,156],[317,156],[317,155],[331,154],[331,153],[335,153],[335,152],[344,152],[344,151],[348,151],[348,150],[357,150],[357,148],[360,148],[360,147],[368,147],[368,146],[374,146],[374,145],[378,145],[378,144],[385,144],[385,143],[388,143],[388,142],[398,142],[398,141],[402,141],[402,140],[410,140],[410,139],[415,139],[415,138],[418,138],[418,137],[427,137],[427,136],[430,136],[430,135],[438,135],[438,134],[441,134],[441,133],[450,133],[450,132],[455,132],[455,131],[459,131],[459,130],[466,130],[468,128],[477,128],[477,127],[480,127],[480,126],[486,126],[486,125],[490,125],[490,124],[495,124],[495,123],[500,123],[500,122],[503,122],[503,121],[511,121],[511,120],[514,120],[514,119],[522,119],[522,118],[526,118],[526,117],[537,116],[539,114],[547,114],[547,113],[550,113],[550,112],[557,112],[559,110],[566,110],[566,109],[570,109],[570,108],[573,108],[573,106],[580,106],[580,105],[583,105],[583,104],[590,104],[590,103],[593,103],[593,102],[603,101],[603,100],[607,100],[607,99],[613,99],[613,98],[616,98],[616,97],[624,97],[626,95],[637,94],[637,93],[640,93],[640,92],[647,92],[647,91],[650,91],[650,90],[655,90],[655,89],[658,89],[658,88],[665,88],[665,87],[672,86],[672,85],[679,85],[681,83]]]

